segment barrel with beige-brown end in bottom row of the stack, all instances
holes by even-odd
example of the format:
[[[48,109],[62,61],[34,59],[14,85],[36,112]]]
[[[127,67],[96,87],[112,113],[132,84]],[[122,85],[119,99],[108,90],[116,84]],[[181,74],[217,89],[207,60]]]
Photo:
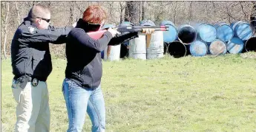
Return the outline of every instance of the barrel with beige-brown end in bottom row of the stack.
[[[225,55],[227,52],[226,43],[221,40],[212,41],[209,46],[211,55]]]

